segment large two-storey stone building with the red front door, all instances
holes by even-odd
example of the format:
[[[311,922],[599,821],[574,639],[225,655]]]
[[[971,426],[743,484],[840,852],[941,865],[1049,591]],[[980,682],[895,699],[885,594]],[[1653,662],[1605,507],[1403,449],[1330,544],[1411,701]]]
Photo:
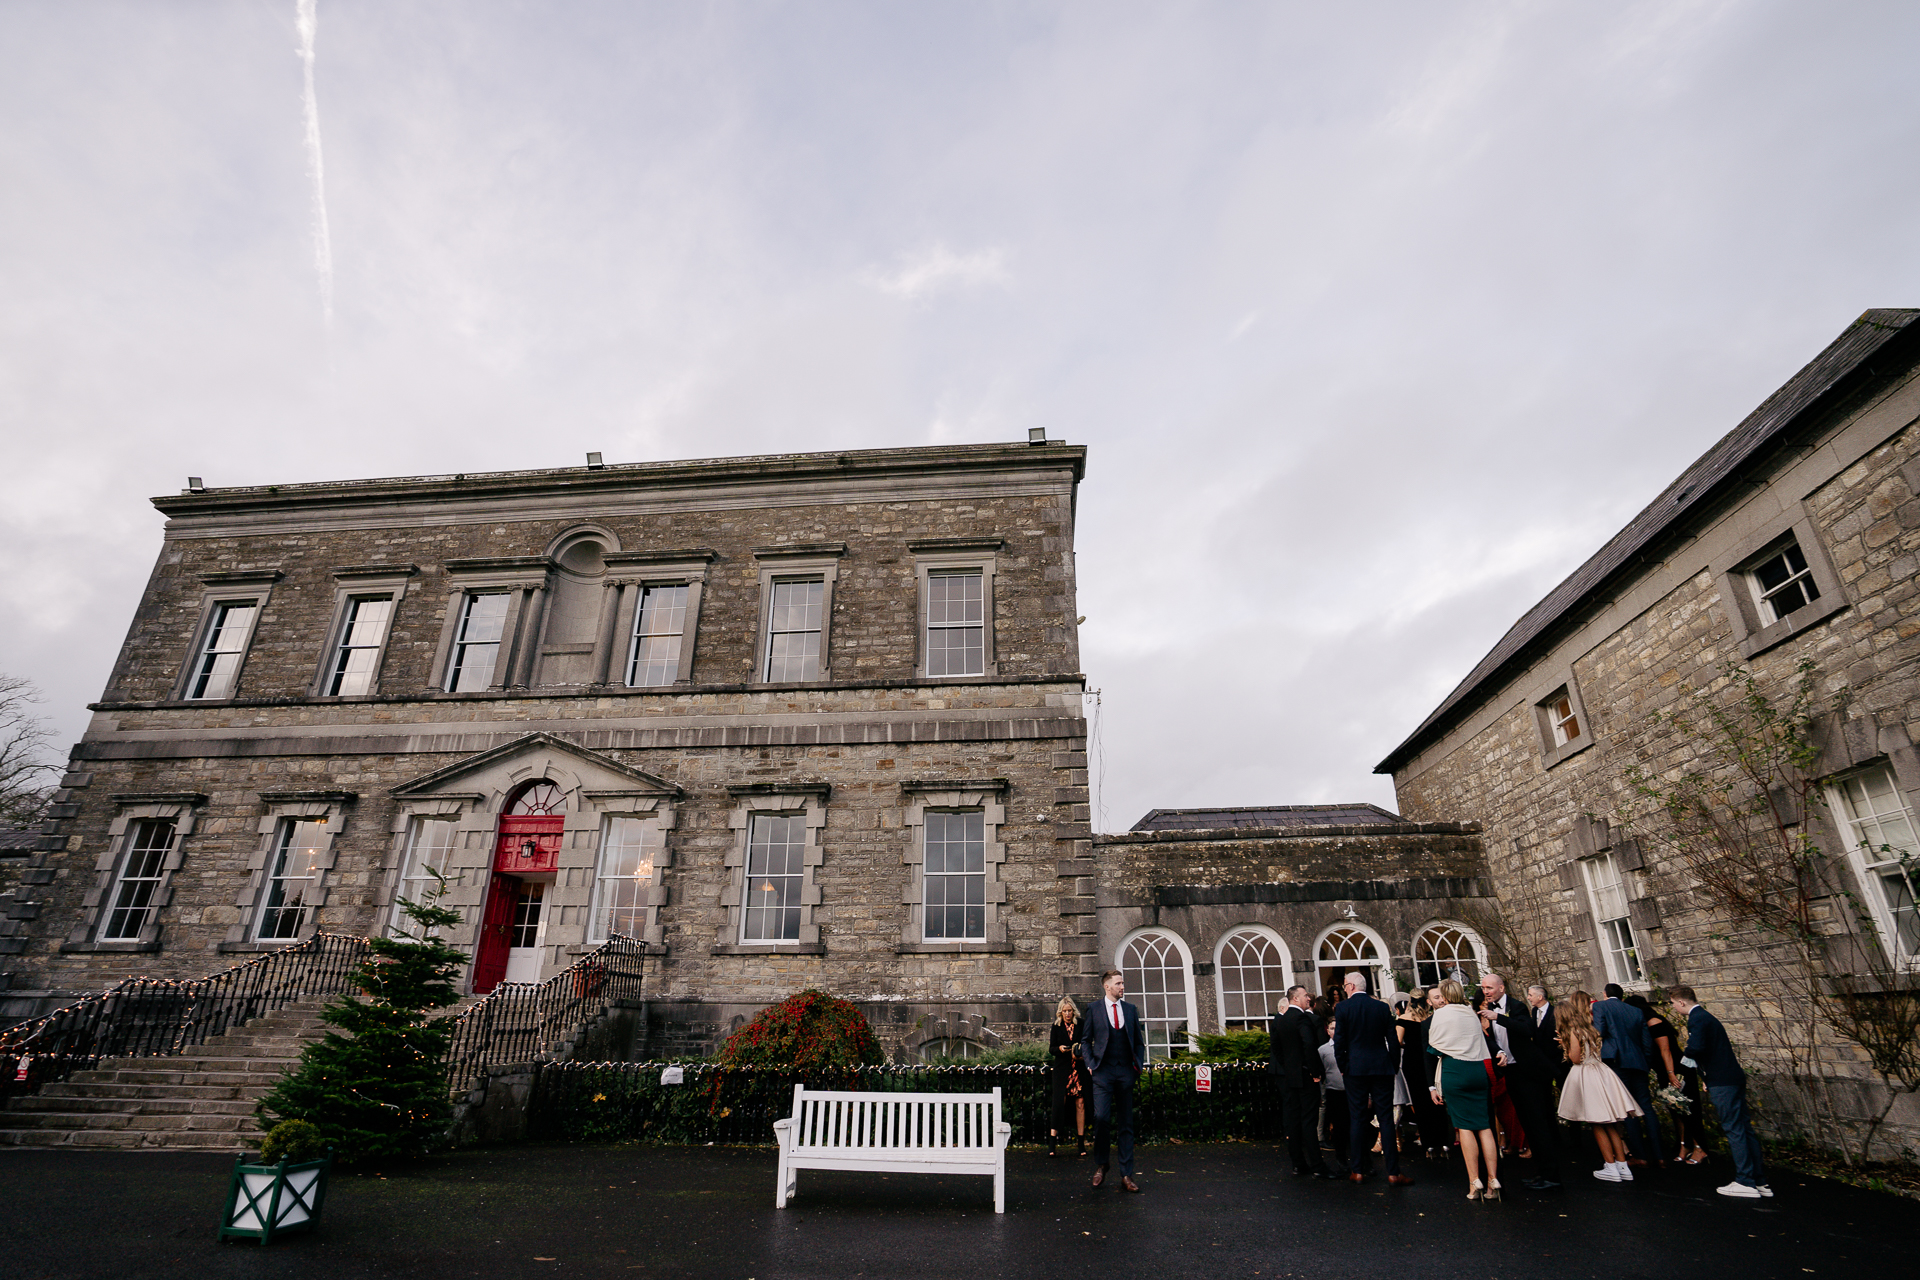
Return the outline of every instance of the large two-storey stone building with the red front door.
[[[392,929],[432,865],[474,992],[643,938],[655,1048],[808,984],[897,1046],[1091,992],[1085,449],[591,462],[156,499],[13,986]]]

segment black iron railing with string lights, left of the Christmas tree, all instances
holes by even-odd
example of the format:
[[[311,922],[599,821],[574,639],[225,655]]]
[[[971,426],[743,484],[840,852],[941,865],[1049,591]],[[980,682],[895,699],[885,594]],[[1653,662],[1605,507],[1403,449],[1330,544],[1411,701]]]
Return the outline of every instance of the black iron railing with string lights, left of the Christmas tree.
[[[338,996],[367,954],[367,938],[317,933],[204,979],[125,979],[0,1032],[0,1098],[108,1057],[173,1057],[298,1000]]]

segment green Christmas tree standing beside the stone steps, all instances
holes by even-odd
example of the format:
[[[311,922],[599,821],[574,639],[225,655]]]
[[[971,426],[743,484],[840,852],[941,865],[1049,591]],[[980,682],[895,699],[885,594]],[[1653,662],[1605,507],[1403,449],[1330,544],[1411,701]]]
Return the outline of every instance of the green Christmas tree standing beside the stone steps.
[[[259,1100],[261,1128],[309,1121],[348,1163],[419,1155],[447,1132],[453,1103],[440,1063],[453,1019],[432,1011],[459,1000],[453,979],[467,956],[440,938],[461,913],[438,906],[447,879],[430,875],[434,889],[420,902],[399,900],[413,931],[367,940],[372,954],[349,979],[365,998],[328,1004],[321,1019],[340,1031],[309,1044]]]

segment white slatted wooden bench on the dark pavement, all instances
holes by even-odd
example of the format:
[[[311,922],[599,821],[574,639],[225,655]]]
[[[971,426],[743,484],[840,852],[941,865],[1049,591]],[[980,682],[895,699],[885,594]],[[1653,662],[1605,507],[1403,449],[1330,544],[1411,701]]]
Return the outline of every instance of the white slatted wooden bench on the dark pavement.
[[[847,1094],[793,1086],[793,1115],[774,1121],[780,1182],[774,1207],[799,1192],[801,1169],[993,1174],[993,1211],[1006,1213],[1000,1090],[991,1094]]]

